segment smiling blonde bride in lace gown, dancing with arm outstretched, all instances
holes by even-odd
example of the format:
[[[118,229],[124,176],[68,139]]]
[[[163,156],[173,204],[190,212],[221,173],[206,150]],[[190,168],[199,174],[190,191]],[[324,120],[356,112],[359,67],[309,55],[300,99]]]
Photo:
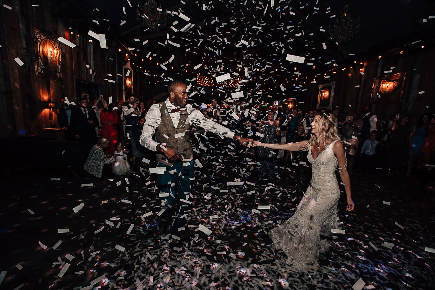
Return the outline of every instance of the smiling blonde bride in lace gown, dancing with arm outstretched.
[[[329,248],[328,241],[320,239],[320,235],[329,236],[331,229],[338,229],[337,204],[340,189],[335,169],[340,172],[341,181],[345,185],[348,201],[346,210],[351,211],[355,206],[346,170],[345,151],[339,141],[334,115],[316,115],[311,123],[311,132],[310,140],[298,143],[254,142],[255,147],[288,151],[308,150],[308,161],[312,163],[311,184],[294,215],[269,231],[274,248],[283,250],[288,256],[286,263],[305,270],[317,270],[319,252],[325,252]]]

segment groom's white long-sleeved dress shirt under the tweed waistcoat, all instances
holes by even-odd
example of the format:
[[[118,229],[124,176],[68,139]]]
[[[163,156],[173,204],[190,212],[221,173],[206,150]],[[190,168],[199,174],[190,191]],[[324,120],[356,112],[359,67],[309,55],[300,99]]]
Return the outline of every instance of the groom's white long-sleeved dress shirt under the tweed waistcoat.
[[[181,112],[178,111],[172,114],[170,112],[172,109],[176,109],[180,107],[172,105],[171,102],[169,101],[169,98],[166,99],[165,104],[166,104],[167,111],[171,116],[172,123],[174,124],[174,127],[177,128],[178,122],[180,121]],[[225,128],[224,126],[219,125],[218,123],[215,123],[214,121],[205,118],[200,111],[192,108],[191,105],[187,104],[184,109],[187,111],[186,124],[187,122],[189,122],[189,125],[195,124],[215,134],[232,138],[232,139],[234,138],[235,135],[234,132],[231,132],[230,129]],[[141,143],[141,145],[152,151],[157,151],[156,147],[158,144],[160,144],[158,142],[155,142],[152,138],[155,132],[155,128],[157,128],[160,125],[160,122],[161,122],[160,106],[159,104],[153,104],[151,105],[151,108],[148,110],[148,113],[145,116],[144,128],[142,129],[142,135],[139,138],[139,142]]]

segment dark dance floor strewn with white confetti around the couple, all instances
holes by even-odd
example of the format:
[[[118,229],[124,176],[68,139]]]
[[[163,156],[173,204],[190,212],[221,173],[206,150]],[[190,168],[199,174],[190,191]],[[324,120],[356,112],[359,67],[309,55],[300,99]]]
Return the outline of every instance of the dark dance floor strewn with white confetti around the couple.
[[[285,265],[266,232],[294,213],[311,170],[291,165],[271,184],[228,186],[246,181],[236,172],[197,175],[182,243],[158,233],[158,193],[143,175],[77,179],[40,168],[10,175],[2,182],[0,289],[351,289],[360,278],[365,289],[435,288],[435,253],[425,251],[435,248],[434,207],[421,179],[382,169],[370,179],[351,175],[355,211],[345,211],[344,193],[338,206],[346,233],[329,237],[319,271],[303,273]],[[253,214],[259,205],[271,209]]]

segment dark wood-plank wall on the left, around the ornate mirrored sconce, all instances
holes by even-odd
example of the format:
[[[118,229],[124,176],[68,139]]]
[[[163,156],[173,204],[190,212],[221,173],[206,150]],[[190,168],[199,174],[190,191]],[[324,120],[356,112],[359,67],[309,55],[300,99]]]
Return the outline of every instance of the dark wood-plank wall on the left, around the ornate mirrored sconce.
[[[115,50],[109,52],[100,48],[97,40],[90,43],[87,31],[78,31],[80,37],[77,36],[74,27],[69,30],[70,25],[55,16],[58,15],[57,7],[49,1],[41,0],[39,7],[24,0],[0,0],[0,3],[0,138],[43,136],[43,128],[50,127],[51,123],[47,101],[54,101],[57,108],[61,107],[60,97],[77,103],[81,92],[76,91],[76,79],[104,85],[103,94],[107,99],[110,95],[114,101],[122,98],[119,94],[122,85],[104,81],[109,78],[107,74],[112,74],[111,79],[120,80],[116,68],[122,67],[124,58],[119,57],[119,63],[115,63]],[[3,3],[12,10],[3,7]],[[33,27],[54,38],[62,36],[77,44],[74,48],[60,44],[62,79],[35,74]],[[71,31],[74,34],[70,34]],[[24,62],[22,67],[14,61],[15,57]],[[96,70],[97,75],[90,74],[86,65]],[[57,125],[57,110],[53,111]]]

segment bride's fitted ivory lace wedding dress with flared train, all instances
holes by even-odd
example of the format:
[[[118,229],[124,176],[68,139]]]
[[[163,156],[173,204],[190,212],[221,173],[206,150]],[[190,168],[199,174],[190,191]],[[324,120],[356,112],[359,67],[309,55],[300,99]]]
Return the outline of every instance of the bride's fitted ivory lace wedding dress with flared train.
[[[299,269],[317,270],[319,252],[329,248],[328,241],[320,235],[329,236],[338,229],[337,204],[340,189],[335,177],[337,159],[332,142],[316,159],[308,152],[312,164],[311,185],[299,203],[294,215],[280,226],[271,229],[269,236],[275,249],[286,253],[287,264]]]

